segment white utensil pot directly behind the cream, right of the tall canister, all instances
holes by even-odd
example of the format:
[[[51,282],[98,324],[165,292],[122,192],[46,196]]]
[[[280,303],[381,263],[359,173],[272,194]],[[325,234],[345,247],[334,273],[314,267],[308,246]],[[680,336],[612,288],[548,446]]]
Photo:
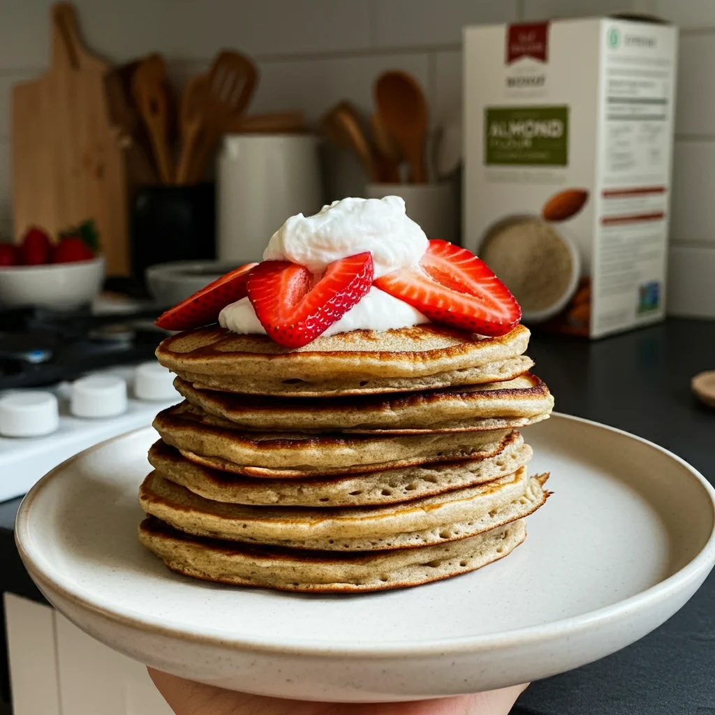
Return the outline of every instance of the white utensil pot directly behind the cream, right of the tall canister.
[[[407,215],[420,225],[428,238],[458,243],[457,197],[451,182],[368,184],[365,187],[368,199],[383,199],[385,196],[403,197]]]

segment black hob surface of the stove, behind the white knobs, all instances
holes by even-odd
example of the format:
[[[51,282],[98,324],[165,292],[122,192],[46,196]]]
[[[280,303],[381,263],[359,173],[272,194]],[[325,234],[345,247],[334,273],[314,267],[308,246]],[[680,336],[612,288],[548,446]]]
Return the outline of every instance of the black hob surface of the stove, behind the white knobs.
[[[53,385],[90,370],[149,360],[167,335],[154,326],[159,312],[0,310],[0,390]]]

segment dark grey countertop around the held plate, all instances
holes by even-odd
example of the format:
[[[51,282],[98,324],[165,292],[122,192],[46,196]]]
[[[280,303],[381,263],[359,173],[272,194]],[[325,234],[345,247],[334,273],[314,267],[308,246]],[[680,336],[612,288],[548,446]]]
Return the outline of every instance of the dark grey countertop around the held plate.
[[[715,484],[715,410],[696,403],[690,391],[696,373],[715,370],[715,321],[668,320],[597,342],[536,334],[528,354],[556,396],[557,410],[652,440]],[[19,501],[0,504],[0,589],[41,600],[12,540]],[[532,684],[513,710],[513,715],[707,714],[715,714],[715,572],[649,636],[601,661]]]

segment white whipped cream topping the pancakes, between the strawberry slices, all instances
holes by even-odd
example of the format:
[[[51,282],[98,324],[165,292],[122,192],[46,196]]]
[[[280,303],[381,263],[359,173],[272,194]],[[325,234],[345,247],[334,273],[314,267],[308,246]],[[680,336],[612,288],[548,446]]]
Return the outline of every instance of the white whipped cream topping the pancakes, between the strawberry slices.
[[[290,217],[272,236],[263,260],[289,260],[321,273],[333,261],[370,251],[377,278],[398,268],[418,265],[427,247],[425,232],[406,215],[402,198],[348,198],[322,207],[315,216]],[[244,335],[266,332],[247,297],[227,305],[219,322]],[[429,320],[418,310],[373,285],[322,335],[391,330],[424,322]]]

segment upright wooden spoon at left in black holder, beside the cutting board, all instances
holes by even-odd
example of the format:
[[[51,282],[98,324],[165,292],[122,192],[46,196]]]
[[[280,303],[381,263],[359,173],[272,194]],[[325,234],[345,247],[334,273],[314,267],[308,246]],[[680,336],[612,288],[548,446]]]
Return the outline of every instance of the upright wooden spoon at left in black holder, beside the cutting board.
[[[169,149],[169,98],[166,85],[167,67],[159,54],[149,55],[134,71],[134,100],[149,130],[159,177],[169,184],[174,180],[174,167]]]

